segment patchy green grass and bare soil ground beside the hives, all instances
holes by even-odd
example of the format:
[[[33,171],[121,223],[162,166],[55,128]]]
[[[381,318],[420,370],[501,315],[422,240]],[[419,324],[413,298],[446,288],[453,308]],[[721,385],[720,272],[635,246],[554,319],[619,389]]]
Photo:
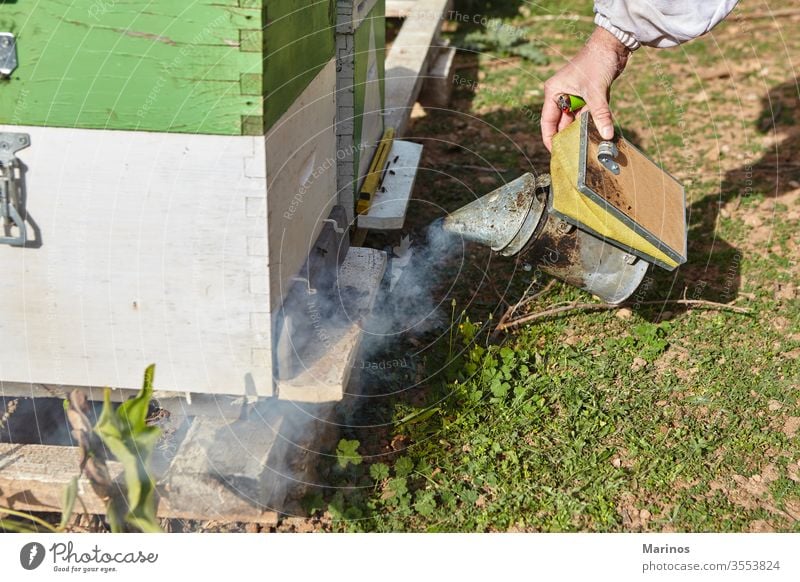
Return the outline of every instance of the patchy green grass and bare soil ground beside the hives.
[[[452,112],[412,127],[445,141],[426,142],[429,167],[509,170],[459,175],[474,193],[546,171],[536,119],[525,111],[538,110],[542,83],[592,28],[535,18],[589,15],[590,2],[524,13],[514,4],[470,9],[530,28],[549,64],[462,54],[459,74],[475,84],[457,87]],[[745,1],[737,10],[758,9]],[[327,511],[333,529],[359,531],[800,532],[792,287],[800,283],[792,161],[800,100],[787,72],[800,39],[791,26],[730,19],[682,48],[643,49],[614,90],[623,133],[687,186],[689,263],[653,273],[643,299],[736,299],[752,313],[642,306],[544,320],[490,340],[505,309],[498,296],[514,303],[530,280],[514,261],[472,249],[443,298],[464,306],[450,336],[425,345],[416,380],[366,377],[386,392],[394,383],[399,395],[360,412],[355,425],[365,428],[347,431],[346,455],[330,469],[335,495],[310,497],[308,509]],[[459,181],[437,176],[422,179],[421,198],[433,192],[450,210],[469,200]],[[556,285],[533,308],[574,299],[590,300]],[[424,374],[443,364],[437,376]]]

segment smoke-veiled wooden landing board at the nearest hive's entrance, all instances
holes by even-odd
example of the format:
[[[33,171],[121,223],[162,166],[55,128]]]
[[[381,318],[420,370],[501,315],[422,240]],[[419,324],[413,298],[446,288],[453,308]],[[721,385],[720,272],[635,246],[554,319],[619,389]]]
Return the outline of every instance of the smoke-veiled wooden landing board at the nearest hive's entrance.
[[[386,254],[351,247],[339,273],[337,299],[344,322],[320,321],[316,333],[322,341],[310,342],[299,355],[301,372],[278,382],[278,397],[297,402],[336,402],[344,397],[363,335],[362,321],[372,311],[386,270]],[[311,308],[313,317],[317,313]],[[302,314],[301,314],[302,315]]]

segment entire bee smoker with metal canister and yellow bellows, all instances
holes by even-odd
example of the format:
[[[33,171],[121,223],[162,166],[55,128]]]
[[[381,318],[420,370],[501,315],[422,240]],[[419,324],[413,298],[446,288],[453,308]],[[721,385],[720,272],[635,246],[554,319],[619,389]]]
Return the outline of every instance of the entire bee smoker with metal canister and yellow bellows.
[[[626,140],[599,139],[583,116],[557,136],[551,174],[525,174],[457,210],[444,229],[609,303],[630,297],[650,264],[686,261],[683,188]]]

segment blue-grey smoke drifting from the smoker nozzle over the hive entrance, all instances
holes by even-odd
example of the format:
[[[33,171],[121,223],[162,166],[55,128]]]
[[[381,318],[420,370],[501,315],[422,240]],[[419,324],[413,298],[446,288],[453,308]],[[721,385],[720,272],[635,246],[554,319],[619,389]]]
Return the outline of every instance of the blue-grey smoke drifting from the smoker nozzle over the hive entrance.
[[[359,302],[363,291],[348,287],[343,279],[329,289],[318,288],[313,293],[309,292],[307,282],[293,285],[278,322],[283,326],[283,333],[276,338],[277,358],[282,358],[277,362],[281,366],[282,381],[291,382],[299,375],[308,377],[309,373],[324,375],[328,361],[325,358],[331,356],[335,364],[340,365],[346,354],[342,353],[337,337],[341,330],[353,326],[361,333],[354,368],[370,370],[373,377],[386,378],[387,382],[382,385],[389,384],[388,376],[396,374],[398,368],[408,369],[403,372],[416,369],[414,355],[407,353],[408,339],[447,329],[450,303],[444,298],[449,295],[448,286],[455,279],[448,271],[459,267],[458,259],[464,254],[463,241],[444,231],[439,220],[418,236],[401,237],[385,251],[387,270],[368,314],[361,311],[363,302]],[[428,343],[421,342],[421,349]],[[324,378],[318,380],[324,381]],[[370,392],[376,395],[380,388],[380,385],[373,385]],[[274,460],[271,471],[278,480],[286,482],[285,492],[289,497],[296,497],[298,491],[327,487],[326,478],[315,476],[315,469],[325,464],[327,451],[335,447],[335,439],[341,436],[340,429],[356,428],[348,414],[353,410],[348,407],[369,405],[366,404],[368,400],[360,398],[362,394],[349,396],[355,398],[346,398],[349,405],[344,407],[333,403],[313,405],[280,401],[258,406],[256,416],[263,418],[265,424],[269,424],[271,417],[281,418],[282,453],[271,457]],[[276,411],[279,412],[276,414]],[[293,509],[289,506],[286,511]]]

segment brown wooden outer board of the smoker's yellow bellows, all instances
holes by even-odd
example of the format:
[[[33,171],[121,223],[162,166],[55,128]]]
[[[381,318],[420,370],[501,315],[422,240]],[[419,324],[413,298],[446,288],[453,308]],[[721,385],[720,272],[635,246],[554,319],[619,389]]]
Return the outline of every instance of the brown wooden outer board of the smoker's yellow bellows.
[[[686,200],[683,186],[658,167],[625,138],[615,140],[619,174],[607,170],[597,159],[603,139],[591,120],[587,121],[588,147],[585,186],[599,201],[616,208],[637,232],[644,229],[653,244],[678,262],[686,260]],[[581,184],[578,186],[582,188]],[[647,234],[645,234],[647,237]],[[658,244],[656,241],[661,241]],[[666,245],[666,248],[665,248]]]

